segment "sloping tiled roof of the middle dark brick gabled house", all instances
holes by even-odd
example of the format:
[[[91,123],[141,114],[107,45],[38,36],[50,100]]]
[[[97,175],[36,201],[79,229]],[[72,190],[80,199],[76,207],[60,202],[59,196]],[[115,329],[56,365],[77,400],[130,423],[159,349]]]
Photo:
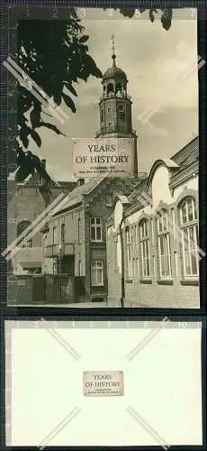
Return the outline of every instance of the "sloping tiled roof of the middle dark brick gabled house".
[[[54,208],[53,214],[57,215],[60,211],[81,203],[83,201],[83,196],[93,191],[103,181],[103,179],[104,178],[90,179],[84,185],[73,189],[69,194],[67,194],[66,198],[61,201],[61,207]]]

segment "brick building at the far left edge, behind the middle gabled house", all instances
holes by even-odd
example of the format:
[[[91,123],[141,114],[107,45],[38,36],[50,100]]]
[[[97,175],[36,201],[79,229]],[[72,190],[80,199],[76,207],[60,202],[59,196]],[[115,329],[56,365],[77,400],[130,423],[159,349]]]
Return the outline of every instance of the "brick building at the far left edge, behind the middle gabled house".
[[[42,160],[45,166],[46,161]],[[44,191],[42,180],[36,172],[23,183],[8,180],[7,243],[14,239],[45,210],[60,193],[68,194],[76,187],[76,182],[53,181],[49,191]],[[14,273],[41,272],[43,260],[41,230],[19,249],[8,263],[8,271]]]

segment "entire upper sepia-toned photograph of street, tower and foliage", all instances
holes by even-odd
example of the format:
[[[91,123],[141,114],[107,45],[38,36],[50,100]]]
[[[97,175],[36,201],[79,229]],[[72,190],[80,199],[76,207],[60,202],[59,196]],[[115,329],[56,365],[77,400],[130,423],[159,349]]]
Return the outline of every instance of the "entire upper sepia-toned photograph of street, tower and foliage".
[[[200,308],[196,9],[67,8],[15,32],[7,305]]]

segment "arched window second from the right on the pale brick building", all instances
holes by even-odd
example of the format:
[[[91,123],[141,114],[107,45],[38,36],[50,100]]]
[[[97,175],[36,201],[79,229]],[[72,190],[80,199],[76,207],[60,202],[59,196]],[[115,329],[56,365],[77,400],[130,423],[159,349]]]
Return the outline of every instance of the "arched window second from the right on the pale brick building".
[[[168,212],[166,210],[158,212],[157,239],[159,274],[161,279],[166,279],[168,277],[172,277],[169,219]]]

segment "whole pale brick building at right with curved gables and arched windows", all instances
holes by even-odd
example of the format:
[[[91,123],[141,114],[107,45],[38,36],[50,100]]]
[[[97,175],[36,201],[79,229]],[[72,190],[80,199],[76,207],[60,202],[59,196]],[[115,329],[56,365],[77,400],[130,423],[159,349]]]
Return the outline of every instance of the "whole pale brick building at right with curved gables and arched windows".
[[[125,307],[199,307],[198,158],[195,138],[117,198],[121,226],[113,215],[107,222],[109,307],[121,306],[121,287]]]

